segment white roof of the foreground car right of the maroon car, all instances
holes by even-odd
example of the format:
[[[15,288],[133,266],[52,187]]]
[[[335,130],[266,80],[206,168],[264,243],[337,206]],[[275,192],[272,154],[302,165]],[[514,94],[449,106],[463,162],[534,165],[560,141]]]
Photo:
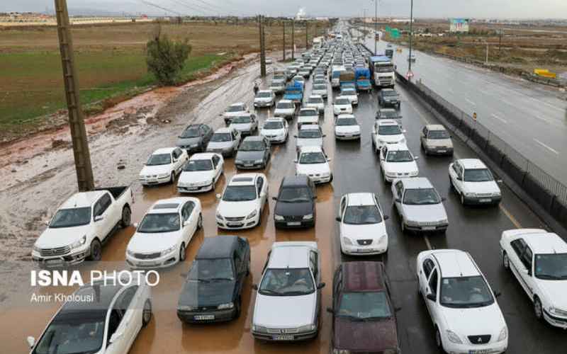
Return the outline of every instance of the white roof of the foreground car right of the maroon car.
[[[441,268],[442,278],[461,278],[481,275],[471,256],[458,249],[432,251]]]

